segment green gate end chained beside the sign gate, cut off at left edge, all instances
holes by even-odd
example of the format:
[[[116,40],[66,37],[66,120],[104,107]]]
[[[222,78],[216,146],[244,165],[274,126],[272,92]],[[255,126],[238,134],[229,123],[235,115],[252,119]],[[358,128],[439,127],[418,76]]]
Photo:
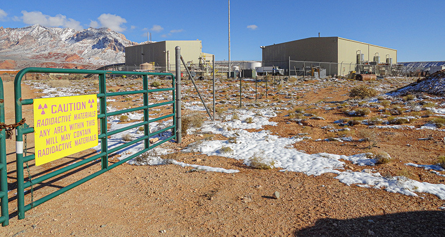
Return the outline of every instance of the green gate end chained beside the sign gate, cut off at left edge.
[[[5,101],[3,100],[3,81],[0,77],[0,123],[5,123]],[[8,211],[8,172],[6,170],[6,128],[0,131],[0,206],[2,209],[2,216],[0,223],[2,226],[9,224]]]

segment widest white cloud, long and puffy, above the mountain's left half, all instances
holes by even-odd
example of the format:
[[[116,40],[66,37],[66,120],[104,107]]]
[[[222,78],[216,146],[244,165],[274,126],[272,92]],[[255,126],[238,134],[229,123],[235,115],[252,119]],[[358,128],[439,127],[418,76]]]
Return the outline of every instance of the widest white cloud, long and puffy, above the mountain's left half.
[[[66,16],[57,14],[55,16],[44,15],[39,11],[27,12],[21,11],[23,14],[23,23],[28,25],[39,24],[47,27],[69,27],[75,30],[82,30],[80,22],[72,18],[66,19]]]

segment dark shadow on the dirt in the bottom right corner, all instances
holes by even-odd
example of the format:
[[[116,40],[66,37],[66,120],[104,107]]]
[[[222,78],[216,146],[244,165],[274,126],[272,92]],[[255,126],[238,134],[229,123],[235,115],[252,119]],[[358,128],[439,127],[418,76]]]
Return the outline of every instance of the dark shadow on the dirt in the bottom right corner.
[[[355,219],[320,219],[295,236],[445,236],[445,211],[412,211]]]

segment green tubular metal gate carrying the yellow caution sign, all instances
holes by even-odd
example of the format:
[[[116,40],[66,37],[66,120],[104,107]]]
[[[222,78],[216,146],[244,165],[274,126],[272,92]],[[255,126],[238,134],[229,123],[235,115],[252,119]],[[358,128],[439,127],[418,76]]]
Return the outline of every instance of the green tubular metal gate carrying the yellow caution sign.
[[[77,70],[77,69],[51,69],[51,68],[26,68],[21,70],[17,73],[15,80],[14,80],[14,93],[15,93],[15,120],[16,122],[19,122],[23,118],[22,114],[22,106],[27,104],[32,104],[33,99],[21,99],[21,79],[26,73],[70,73],[70,74],[96,74],[99,76],[99,94],[97,94],[97,98],[99,99],[99,113],[97,118],[100,119],[100,134],[98,136],[98,139],[100,140],[101,144],[101,150],[100,153],[97,155],[94,155],[90,158],[86,158],[84,160],[81,160],[77,163],[70,164],[68,166],[65,166],[63,168],[57,169],[49,174],[42,175],[37,178],[32,178],[32,183],[30,181],[25,182],[24,180],[24,164],[28,161],[32,161],[35,159],[35,155],[26,155],[24,156],[23,153],[16,152],[16,159],[17,159],[17,212],[18,212],[18,219],[24,219],[25,218],[25,212],[30,210],[33,207],[36,207],[46,201],[49,201],[61,193],[64,193],[88,180],[91,180],[109,169],[115,168],[116,166],[125,163],[129,161],[130,159],[133,159],[145,152],[147,152],[149,149],[154,148],[155,146],[158,146],[166,141],[169,141],[171,139],[176,139],[176,105],[175,105],[175,77],[171,73],[148,73],[148,72],[120,72],[120,71],[100,71],[100,70]],[[114,74],[114,75],[139,75],[142,76],[142,85],[143,90],[140,91],[126,91],[126,92],[106,92],[106,83],[105,83],[105,77],[107,74]],[[155,75],[155,76],[171,76],[172,83],[171,88],[167,89],[148,89],[148,76],[149,75]],[[172,100],[162,103],[156,103],[156,104],[148,104],[148,93],[152,92],[162,92],[162,91],[171,91],[172,92]],[[120,110],[115,112],[107,112],[106,111],[106,98],[109,96],[120,96],[120,95],[134,95],[134,94],[143,94],[143,106],[126,109],[126,110]],[[172,105],[172,113],[158,117],[149,119],[148,112],[149,109],[152,107],[162,106],[162,105]],[[107,118],[109,116],[116,116],[124,113],[129,112],[135,112],[135,111],[143,111],[143,122],[129,125],[123,128],[120,128],[118,130],[114,131],[107,131]],[[173,122],[171,126],[165,127],[160,131],[150,133],[149,132],[149,123],[159,121],[162,119],[166,119],[172,117]],[[114,147],[112,149],[108,149],[108,141],[107,137],[110,135],[114,135],[117,133],[121,133],[127,130],[130,130],[135,127],[144,126],[144,136],[141,138],[138,138],[136,140],[127,142],[125,144],[119,145],[117,147]],[[172,136],[161,140],[155,144],[150,145],[149,138],[158,134],[161,134],[167,130],[172,130]],[[16,150],[21,151],[23,150],[23,135],[33,133],[34,127],[29,127],[27,124],[17,126],[16,128]],[[117,152],[118,150],[121,150],[125,147],[128,147],[130,145],[136,144],[138,142],[144,141],[144,149],[140,150],[139,152],[132,154],[131,156],[116,162],[112,165],[108,165],[108,155]],[[79,150],[80,152],[80,150]],[[77,168],[79,166],[82,166],[88,162],[92,162],[96,159],[101,159],[101,169],[99,171],[96,171],[96,173],[93,173],[91,175],[88,175],[72,184],[69,184],[68,186],[62,187],[58,189],[57,191],[54,191],[50,193],[47,196],[44,196],[38,200],[32,201],[30,204],[25,205],[25,188],[32,188],[32,185],[41,183],[43,181],[49,180],[51,178],[54,178],[58,175],[61,175],[69,170],[72,170],[74,168]],[[3,180],[3,179],[2,179]],[[32,191],[32,190],[31,190]],[[32,192],[31,192],[32,193]],[[32,197],[32,196],[31,196]],[[3,205],[2,205],[3,207]]]

